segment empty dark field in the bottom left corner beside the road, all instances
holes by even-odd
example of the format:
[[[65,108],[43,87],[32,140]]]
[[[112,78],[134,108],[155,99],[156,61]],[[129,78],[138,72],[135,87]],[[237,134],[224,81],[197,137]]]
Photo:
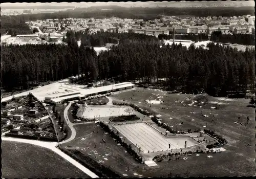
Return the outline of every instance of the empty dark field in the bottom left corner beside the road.
[[[32,144],[2,142],[2,177],[89,177],[53,151]]]

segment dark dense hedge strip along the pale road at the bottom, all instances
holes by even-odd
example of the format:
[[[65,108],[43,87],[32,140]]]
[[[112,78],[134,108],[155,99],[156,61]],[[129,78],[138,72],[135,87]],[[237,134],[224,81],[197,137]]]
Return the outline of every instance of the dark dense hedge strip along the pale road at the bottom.
[[[83,166],[87,167],[89,170],[97,174],[99,177],[120,177],[119,174],[115,173],[109,167],[105,167],[97,163],[89,156],[84,155],[78,150],[67,150],[61,147],[59,149],[64,153],[68,154],[69,156],[71,156],[73,159],[75,159]]]

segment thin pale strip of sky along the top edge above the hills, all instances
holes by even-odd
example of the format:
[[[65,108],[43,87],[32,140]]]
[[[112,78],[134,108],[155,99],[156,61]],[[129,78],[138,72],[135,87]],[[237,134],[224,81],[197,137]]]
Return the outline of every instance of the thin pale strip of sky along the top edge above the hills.
[[[185,1],[181,1],[184,2]],[[167,2],[164,1],[164,6],[168,7],[177,7],[179,3],[181,2]],[[227,1],[228,2],[228,1]],[[248,6],[254,6],[255,3],[254,1],[231,1],[231,2],[241,2],[243,4],[248,4]],[[193,4],[203,4],[204,2],[187,2],[187,3],[193,3]],[[209,2],[208,2],[209,3]],[[216,1],[214,2],[216,3]],[[1,6],[31,6],[31,5],[38,5],[38,6],[44,6],[44,5],[52,5],[52,6],[75,6],[75,7],[91,7],[91,6],[108,6],[108,5],[117,5],[117,6],[122,6],[122,7],[152,7],[152,6],[157,6],[157,2],[96,2],[96,3],[67,3],[67,2],[62,2],[62,3],[1,3]]]

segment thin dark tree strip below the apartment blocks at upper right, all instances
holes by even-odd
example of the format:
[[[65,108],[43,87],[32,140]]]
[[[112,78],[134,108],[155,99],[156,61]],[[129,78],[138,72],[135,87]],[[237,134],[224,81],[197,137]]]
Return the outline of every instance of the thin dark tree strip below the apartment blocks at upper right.
[[[173,39],[173,35],[159,34],[158,38],[162,39]],[[207,34],[176,34],[175,39],[180,40],[192,40],[195,42],[209,40]],[[210,36],[211,41],[221,42],[221,43],[238,43],[245,46],[255,45],[255,35],[254,34],[222,34],[221,32],[213,32]]]

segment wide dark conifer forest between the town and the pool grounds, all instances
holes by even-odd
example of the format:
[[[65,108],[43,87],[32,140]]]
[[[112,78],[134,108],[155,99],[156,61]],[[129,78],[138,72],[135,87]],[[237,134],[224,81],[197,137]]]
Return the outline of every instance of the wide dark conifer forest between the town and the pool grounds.
[[[187,93],[204,89],[209,94],[225,96],[254,89],[254,49],[242,52],[214,43],[208,44],[209,50],[193,44],[188,49],[181,44],[160,48],[156,37],[127,33],[116,36],[119,46],[97,56],[86,42],[87,37],[104,41],[108,35],[114,34],[82,34],[80,47],[74,34],[69,37],[69,46],[4,46],[2,86],[9,90],[27,88],[31,81],[55,81],[83,74],[87,81],[113,78],[119,82],[142,79],[151,83],[166,79],[162,85]]]

